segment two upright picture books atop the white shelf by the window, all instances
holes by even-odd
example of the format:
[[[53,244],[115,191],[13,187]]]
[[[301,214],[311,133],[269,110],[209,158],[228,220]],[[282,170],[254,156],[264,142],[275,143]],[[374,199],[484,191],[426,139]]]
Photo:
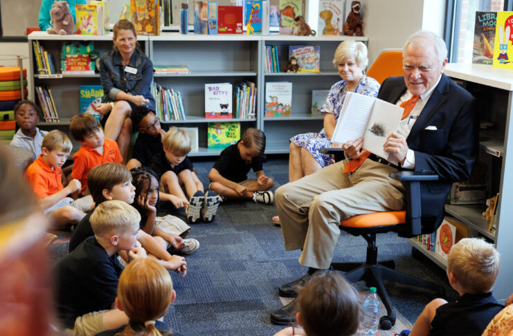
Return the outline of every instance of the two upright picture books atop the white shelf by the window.
[[[513,12],[476,12],[472,63],[513,68]]]

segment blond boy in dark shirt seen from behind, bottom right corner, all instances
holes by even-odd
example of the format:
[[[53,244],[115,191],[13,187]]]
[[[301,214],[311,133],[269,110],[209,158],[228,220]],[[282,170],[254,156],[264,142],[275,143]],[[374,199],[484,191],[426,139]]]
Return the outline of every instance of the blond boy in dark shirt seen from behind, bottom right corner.
[[[457,301],[434,299],[415,321],[411,333],[400,335],[480,336],[489,321],[504,307],[492,295],[499,254],[482,239],[462,239],[451,248],[447,277],[458,292]]]

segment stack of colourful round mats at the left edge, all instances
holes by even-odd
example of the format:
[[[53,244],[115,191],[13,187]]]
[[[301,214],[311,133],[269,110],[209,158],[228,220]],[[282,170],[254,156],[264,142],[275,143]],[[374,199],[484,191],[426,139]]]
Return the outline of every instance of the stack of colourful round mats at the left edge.
[[[23,69],[24,97],[27,97],[27,71]],[[19,68],[0,67],[0,143],[9,144],[15,136],[16,122],[14,107],[21,100]]]

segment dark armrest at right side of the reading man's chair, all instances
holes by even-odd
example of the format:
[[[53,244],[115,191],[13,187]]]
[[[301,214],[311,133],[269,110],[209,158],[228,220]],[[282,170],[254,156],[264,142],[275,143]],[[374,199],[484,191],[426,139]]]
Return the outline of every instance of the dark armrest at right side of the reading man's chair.
[[[422,233],[422,207],[420,203],[420,184],[438,180],[438,175],[417,171],[392,171],[390,178],[399,180],[406,189],[406,223],[407,230],[401,236],[417,236]]]

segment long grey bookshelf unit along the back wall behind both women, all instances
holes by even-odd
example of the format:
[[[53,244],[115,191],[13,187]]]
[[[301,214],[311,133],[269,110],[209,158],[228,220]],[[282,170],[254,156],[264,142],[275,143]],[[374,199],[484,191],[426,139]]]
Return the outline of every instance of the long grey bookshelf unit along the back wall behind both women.
[[[249,127],[265,131],[266,153],[288,153],[288,140],[299,133],[318,132],[323,128],[323,117],[312,116],[312,90],[329,90],[340,80],[332,64],[334,50],[341,41],[354,39],[368,41],[367,37],[320,36],[300,37],[291,35],[181,35],[163,32],[159,36],[138,36],[141,50],[150,57],[154,65],[186,65],[189,73],[155,74],[154,82],[181,93],[186,120],[167,123],[177,127],[197,127],[199,150],[191,156],[217,156],[222,149],[208,149],[208,122],[240,122],[241,133]],[[55,75],[39,75],[33,53],[32,41],[39,41],[55,59]],[[80,113],[78,94],[81,85],[99,85],[100,75],[61,74],[60,50],[64,41],[93,41],[93,48],[103,55],[112,48],[112,34],[92,35],[48,35],[32,32],[28,35],[30,55],[29,74],[34,81],[29,97],[37,102],[35,86],[51,88],[60,122],[39,122],[44,129],[57,128],[68,132],[73,115]],[[320,46],[321,73],[266,73],[265,47],[278,46],[278,62],[285,68],[289,46]],[[253,82],[257,87],[255,118],[235,118],[235,88],[240,82]],[[265,118],[265,84],[267,82],[292,82],[292,110],[289,117]],[[233,86],[233,119],[205,118],[205,84],[231,83]],[[74,149],[78,149],[78,144]]]

